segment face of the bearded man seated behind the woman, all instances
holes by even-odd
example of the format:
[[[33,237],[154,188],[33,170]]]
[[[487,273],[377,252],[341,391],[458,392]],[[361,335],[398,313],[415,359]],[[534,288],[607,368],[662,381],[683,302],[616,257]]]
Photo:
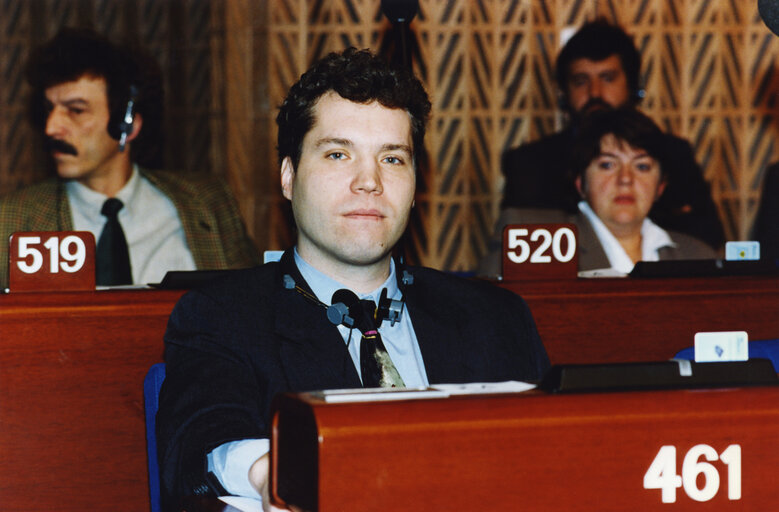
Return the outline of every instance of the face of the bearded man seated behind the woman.
[[[619,55],[603,60],[576,59],[568,68],[567,98],[576,115],[617,108],[630,100],[630,88]]]

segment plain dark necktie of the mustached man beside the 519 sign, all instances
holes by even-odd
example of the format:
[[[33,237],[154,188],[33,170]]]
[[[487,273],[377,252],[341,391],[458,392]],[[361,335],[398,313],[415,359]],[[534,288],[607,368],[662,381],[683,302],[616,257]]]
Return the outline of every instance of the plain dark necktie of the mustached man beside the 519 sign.
[[[124,238],[122,225],[117,215],[124,204],[114,197],[106,199],[100,213],[106,216],[106,223],[100,233],[95,255],[95,274],[98,285],[111,286],[132,284],[130,252]]]

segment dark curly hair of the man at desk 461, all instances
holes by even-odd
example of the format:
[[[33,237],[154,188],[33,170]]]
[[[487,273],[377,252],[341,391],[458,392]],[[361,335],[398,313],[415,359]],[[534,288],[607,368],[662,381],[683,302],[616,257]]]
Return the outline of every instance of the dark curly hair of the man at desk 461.
[[[424,87],[408,71],[355,48],[326,55],[290,88],[276,116],[279,163],[289,157],[297,168],[303,137],[314,124],[314,106],[329,91],[355,103],[378,101],[387,108],[406,110],[411,116],[414,168],[419,169],[425,159],[425,125],[430,115]]]

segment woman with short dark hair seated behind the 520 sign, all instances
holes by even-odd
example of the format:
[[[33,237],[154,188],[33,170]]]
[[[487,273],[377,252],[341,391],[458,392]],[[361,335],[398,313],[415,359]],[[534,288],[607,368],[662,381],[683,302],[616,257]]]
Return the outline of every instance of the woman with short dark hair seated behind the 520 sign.
[[[571,179],[581,195],[579,212],[508,208],[479,272],[500,274],[503,227],[509,224],[576,224],[579,270],[627,274],[637,261],[715,258],[708,245],[667,231],[648,217],[665,189],[663,133],[635,109],[596,111],[580,126],[570,155]]]

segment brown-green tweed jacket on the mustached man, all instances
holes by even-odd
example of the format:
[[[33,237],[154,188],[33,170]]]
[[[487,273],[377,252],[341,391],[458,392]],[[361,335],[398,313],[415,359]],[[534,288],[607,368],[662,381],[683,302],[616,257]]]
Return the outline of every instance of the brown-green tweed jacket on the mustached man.
[[[243,268],[260,256],[227,186],[212,176],[140,169],[173,202],[198,269]],[[152,221],[153,215],[149,215]],[[8,286],[8,239],[18,231],[72,231],[64,181],[52,178],[0,199],[0,289]]]

